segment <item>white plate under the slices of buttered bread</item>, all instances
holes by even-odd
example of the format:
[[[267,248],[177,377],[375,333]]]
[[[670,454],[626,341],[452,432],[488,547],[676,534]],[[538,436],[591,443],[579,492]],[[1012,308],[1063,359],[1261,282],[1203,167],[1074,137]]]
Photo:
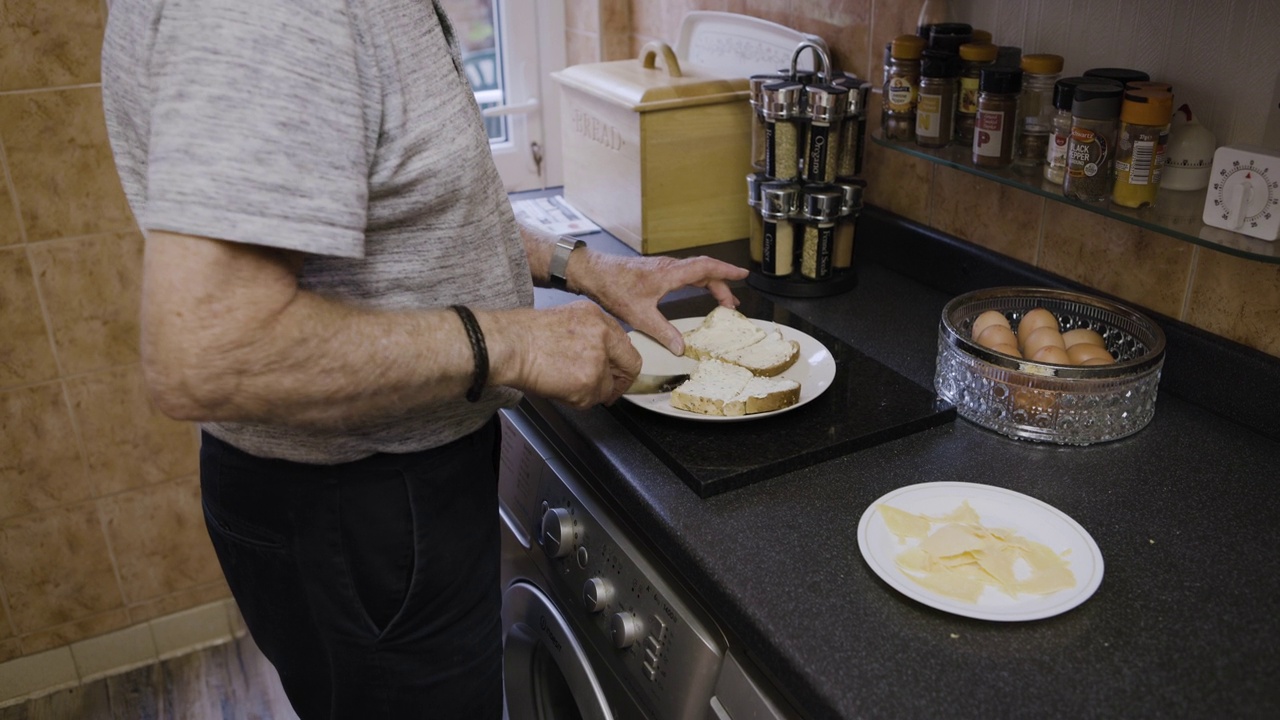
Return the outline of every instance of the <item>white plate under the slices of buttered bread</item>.
[[[704,318],[678,318],[672,320],[671,324],[680,332],[687,332],[700,325],[703,320]],[[801,405],[805,405],[806,402],[810,402],[815,397],[820,396],[828,387],[831,387],[831,383],[836,379],[836,359],[831,355],[831,351],[827,350],[826,345],[815,340],[809,333],[787,325],[780,325],[768,320],[756,319],[753,319],[751,322],[764,331],[778,329],[785,340],[794,340],[800,343],[800,359],[796,360],[795,365],[791,365],[778,375],[780,378],[800,383],[800,400],[795,405],[769,413],[726,416],[703,415],[700,413],[690,413],[687,410],[675,407],[671,405],[669,392],[623,395],[622,398],[644,407],[645,410],[652,410],[660,415],[671,415],[672,418],[707,420],[713,423],[732,423],[740,420],[755,420],[758,418],[769,418],[772,415],[795,410],[796,407],[800,407]],[[671,351],[659,345],[658,341],[639,331],[631,331],[630,337],[631,345],[634,345],[636,351],[640,352],[640,357],[643,360],[643,365],[640,368],[641,373],[657,375],[684,374],[691,373],[694,368],[698,366],[698,360],[685,357],[682,355],[672,355]]]

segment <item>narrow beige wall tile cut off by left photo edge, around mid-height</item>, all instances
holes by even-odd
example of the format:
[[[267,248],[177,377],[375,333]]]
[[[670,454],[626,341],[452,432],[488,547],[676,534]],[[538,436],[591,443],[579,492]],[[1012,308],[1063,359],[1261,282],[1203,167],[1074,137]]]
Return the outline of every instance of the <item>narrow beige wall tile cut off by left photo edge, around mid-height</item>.
[[[36,281],[23,246],[0,247],[0,387],[58,377]]]

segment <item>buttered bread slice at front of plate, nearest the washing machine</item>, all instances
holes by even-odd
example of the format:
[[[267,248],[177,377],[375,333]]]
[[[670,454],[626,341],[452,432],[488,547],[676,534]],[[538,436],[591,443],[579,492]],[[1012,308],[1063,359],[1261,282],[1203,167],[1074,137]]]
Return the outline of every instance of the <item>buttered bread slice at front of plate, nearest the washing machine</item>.
[[[671,405],[703,415],[751,415],[788,407],[800,401],[800,383],[762,378],[746,368],[704,360],[689,380],[671,391]]]

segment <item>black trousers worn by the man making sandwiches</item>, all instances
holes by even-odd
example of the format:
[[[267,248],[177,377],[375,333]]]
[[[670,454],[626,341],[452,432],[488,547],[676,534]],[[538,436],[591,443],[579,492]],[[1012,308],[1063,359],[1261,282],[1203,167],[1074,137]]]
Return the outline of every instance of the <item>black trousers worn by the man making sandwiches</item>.
[[[205,433],[209,536],[302,720],[502,716],[497,441],[307,465]]]

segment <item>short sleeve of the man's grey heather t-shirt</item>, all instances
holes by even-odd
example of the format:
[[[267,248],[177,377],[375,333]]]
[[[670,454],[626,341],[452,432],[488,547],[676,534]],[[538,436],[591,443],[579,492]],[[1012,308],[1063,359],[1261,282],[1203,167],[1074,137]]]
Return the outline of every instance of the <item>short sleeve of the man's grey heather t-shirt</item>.
[[[166,3],[140,223],[362,256],[371,131],[356,37],[340,0]]]

